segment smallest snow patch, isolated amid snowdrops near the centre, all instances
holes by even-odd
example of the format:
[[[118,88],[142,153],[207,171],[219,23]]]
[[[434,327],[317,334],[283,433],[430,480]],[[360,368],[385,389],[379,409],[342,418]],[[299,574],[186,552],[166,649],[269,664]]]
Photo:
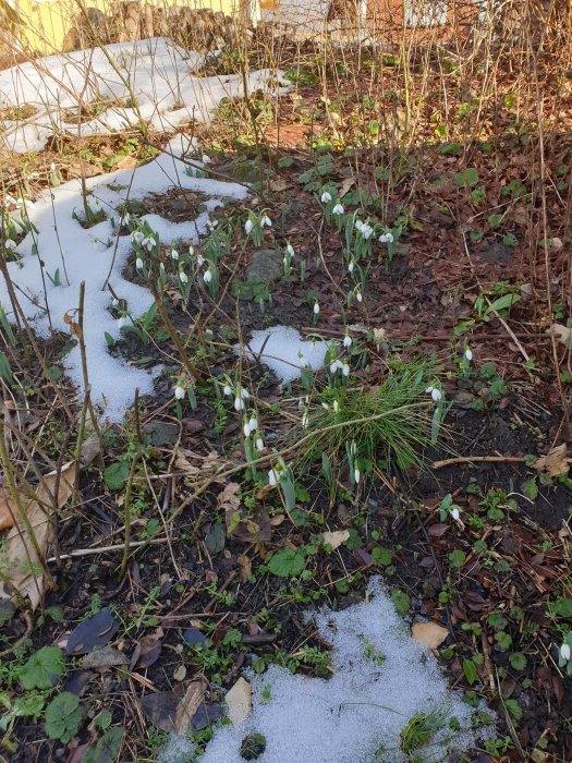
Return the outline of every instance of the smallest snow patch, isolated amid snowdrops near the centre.
[[[313,371],[319,371],[324,365],[327,350],[328,342],[320,339],[304,340],[295,328],[272,326],[272,328],[253,331],[248,347],[244,349],[238,347],[236,353],[254,360],[261,352],[261,362],[273,371],[279,379],[292,382],[300,378],[304,363]]]

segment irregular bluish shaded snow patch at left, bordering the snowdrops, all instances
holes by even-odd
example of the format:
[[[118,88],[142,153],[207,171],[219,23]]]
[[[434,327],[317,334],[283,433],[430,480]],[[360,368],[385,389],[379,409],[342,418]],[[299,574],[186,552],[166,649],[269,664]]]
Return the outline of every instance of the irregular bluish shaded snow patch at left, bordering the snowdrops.
[[[107,219],[82,228],[74,213],[83,217],[82,183],[72,180],[54,189],[44,191],[33,207],[16,211],[15,218],[27,215],[31,232],[15,249],[20,262],[8,264],[20,304],[34,330],[41,337],[52,330],[69,331],[68,313],[77,308],[80,284],[85,281],[84,336],[92,399],[101,405],[107,417],[120,421],[132,404],[135,389],[142,395],[153,392],[154,378],[160,368],[151,372],[129,365],[121,358],[109,354],[106,332],[114,340],[121,336],[115,317],[111,314],[111,294],[104,284],[109,283],[119,299],[127,303],[131,315],[143,315],[153,303],[151,292],[123,278],[122,271],[132,251],[130,235],[119,234],[120,215],[117,211],[129,201],[142,199],[150,191],[165,193],[173,186],[197,191],[208,196],[207,211],[188,222],[170,222],[155,215],[145,219],[159,233],[161,243],[171,244],[178,239],[197,243],[207,229],[208,209],[222,204],[221,197],[245,198],[247,190],[236,183],[226,183],[208,178],[191,177],[179,158],[188,153],[193,144],[180,136],[173,138],[166,153],[135,170],[119,170],[86,180],[90,192],[89,204],[97,199]],[[54,286],[59,270],[60,286]],[[3,276],[0,275],[0,303],[9,319],[14,319],[12,305]],[[64,359],[64,366],[72,380],[83,390],[82,363],[78,346]]]

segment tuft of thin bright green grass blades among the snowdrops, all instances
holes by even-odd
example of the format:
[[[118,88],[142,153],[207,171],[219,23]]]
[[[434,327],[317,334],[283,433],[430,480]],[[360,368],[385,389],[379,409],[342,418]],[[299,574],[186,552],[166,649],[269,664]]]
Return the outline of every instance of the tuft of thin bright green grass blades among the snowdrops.
[[[436,405],[426,390],[438,372],[435,358],[392,361],[379,385],[327,387],[308,412],[305,431],[295,432],[296,439],[311,435],[301,465],[321,459],[353,473],[355,462],[363,472],[377,463],[395,463],[402,471],[421,465],[435,433]]]

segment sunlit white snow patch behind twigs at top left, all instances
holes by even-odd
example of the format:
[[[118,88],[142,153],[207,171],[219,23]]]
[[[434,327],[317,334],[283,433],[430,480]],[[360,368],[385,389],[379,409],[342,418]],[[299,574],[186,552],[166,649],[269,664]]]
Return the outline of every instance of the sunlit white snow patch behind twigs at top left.
[[[52,134],[83,137],[151,125],[174,132],[193,120],[207,122],[223,98],[244,95],[241,74],[195,76],[204,55],[187,52],[173,40],[154,37],[100,48],[59,53],[0,72],[0,108],[32,106],[22,121],[0,122],[1,144],[24,153],[39,150]],[[280,72],[260,70],[247,77],[250,92],[288,85]],[[109,104],[105,108],[106,102]],[[77,113],[97,105],[102,111],[74,124]]]

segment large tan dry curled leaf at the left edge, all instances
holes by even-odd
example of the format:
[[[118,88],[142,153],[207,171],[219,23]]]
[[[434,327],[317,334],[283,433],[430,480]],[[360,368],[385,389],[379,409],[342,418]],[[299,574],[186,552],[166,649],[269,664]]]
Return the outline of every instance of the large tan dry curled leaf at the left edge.
[[[83,452],[83,464],[90,463],[99,450],[89,448]],[[5,537],[5,577],[10,581],[13,591],[0,590],[0,598],[12,598],[14,593],[22,598],[29,598],[32,609],[36,609],[42,597],[45,589],[44,568],[41,562],[46,558],[46,552],[53,537],[53,525],[50,521],[50,512],[53,509],[52,500],[58,509],[61,509],[73,493],[77,476],[75,461],[65,463],[58,476],[57,472],[47,474],[36,488],[36,499],[31,500],[22,496],[25,516],[32,529],[35,545],[39,549],[39,556],[31,540],[28,529],[23,522],[17,522]],[[58,495],[54,495],[58,488]],[[14,507],[15,508],[15,507]],[[19,520],[17,510],[14,517]]]

